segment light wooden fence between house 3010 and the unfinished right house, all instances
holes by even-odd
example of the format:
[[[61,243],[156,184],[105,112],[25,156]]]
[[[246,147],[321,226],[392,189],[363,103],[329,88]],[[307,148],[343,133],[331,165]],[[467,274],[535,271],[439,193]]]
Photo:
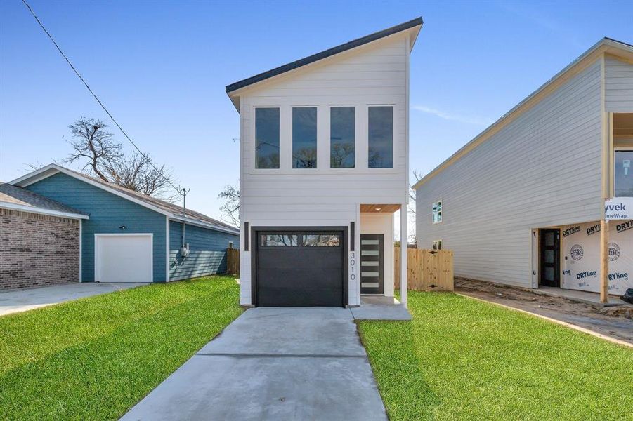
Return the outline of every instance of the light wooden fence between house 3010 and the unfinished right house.
[[[400,288],[400,247],[396,247],[394,287]],[[452,291],[452,250],[407,249],[407,287],[418,291]]]

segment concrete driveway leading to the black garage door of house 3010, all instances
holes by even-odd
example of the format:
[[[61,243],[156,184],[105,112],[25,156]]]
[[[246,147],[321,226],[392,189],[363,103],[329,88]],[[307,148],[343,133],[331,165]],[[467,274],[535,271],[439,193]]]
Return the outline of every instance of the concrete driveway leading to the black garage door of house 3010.
[[[353,316],[249,309],[122,420],[386,420]]]

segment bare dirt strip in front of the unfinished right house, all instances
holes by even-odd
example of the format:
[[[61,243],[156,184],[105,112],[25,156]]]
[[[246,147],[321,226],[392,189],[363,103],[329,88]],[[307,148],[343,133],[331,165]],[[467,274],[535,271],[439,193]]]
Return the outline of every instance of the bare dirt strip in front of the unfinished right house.
[[[633,344],[633,305],[598,308],[495,283],[455,279],[455,292],[575,324]]]

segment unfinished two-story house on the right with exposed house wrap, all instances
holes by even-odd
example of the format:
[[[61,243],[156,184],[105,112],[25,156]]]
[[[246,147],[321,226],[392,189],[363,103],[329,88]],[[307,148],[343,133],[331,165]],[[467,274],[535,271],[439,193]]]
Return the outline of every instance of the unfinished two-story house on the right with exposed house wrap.
[[[523,288],[633,288],[633,46],[602,39],[415,185],[419,247]]]

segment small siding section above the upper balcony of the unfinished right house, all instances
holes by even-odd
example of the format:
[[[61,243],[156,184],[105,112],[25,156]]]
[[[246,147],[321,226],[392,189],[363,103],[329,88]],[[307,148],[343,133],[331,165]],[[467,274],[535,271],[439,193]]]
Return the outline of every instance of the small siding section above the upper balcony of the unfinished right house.
[[[607,56],[604,69],[607,112],[633,112],[633,64]]]

